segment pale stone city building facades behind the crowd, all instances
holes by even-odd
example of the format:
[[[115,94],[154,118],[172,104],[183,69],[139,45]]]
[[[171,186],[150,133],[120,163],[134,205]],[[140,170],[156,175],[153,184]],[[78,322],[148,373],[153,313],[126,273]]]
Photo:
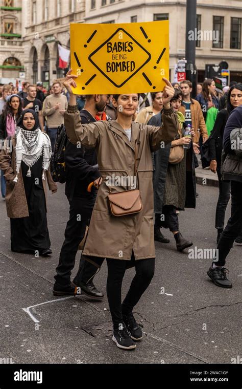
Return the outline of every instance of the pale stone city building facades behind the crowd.
[[[132,23],[170,20],[170,78],[185,56],[186,1],[173,0],[1,0],[0,78],[21,75],[47,87],[58,68],[58,43],[70,47],[70,23]],[[242,4],[237,0],[197,0],[196,66],[227,61],[230,79],[242,81]],[[160,32],[162,34],[162,31]]]

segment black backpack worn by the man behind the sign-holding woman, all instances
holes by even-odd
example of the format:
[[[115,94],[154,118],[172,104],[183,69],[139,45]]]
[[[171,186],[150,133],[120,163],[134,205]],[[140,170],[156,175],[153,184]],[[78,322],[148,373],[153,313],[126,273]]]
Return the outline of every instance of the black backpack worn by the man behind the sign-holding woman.
[[[84,113],[80,112],[81,118],[85,118],[90,123],[90,118]],[[55,147],[51,156],[51,175],[55,182],[64,184],[66,182],[66,171],[65,171],[65,147],[68,142],[68,138],[65,131],[64,124],[58,126]]]

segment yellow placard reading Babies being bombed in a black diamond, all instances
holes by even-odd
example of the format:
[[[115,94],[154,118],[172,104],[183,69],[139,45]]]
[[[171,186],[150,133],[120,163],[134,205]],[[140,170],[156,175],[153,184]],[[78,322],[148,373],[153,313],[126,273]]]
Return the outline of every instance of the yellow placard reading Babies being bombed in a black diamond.
[[[169,22],[70,24],[75,94],[162,91],[169,78]]]

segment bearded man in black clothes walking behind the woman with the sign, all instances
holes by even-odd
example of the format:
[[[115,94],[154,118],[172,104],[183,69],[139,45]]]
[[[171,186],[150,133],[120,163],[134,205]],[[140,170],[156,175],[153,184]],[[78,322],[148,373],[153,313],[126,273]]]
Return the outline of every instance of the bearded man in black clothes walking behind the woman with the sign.
[[[82,123],[94,122],[94,116],[105,109],[106,101],[107,95],[86,96],[84,109],[80,111]],[[75,266],[78,246],[89,225],[96,199],[96,189],[88,192],[87,187],[93,181],[97,184],[100,178],[94,148],[87,149],[84,146],[79,148],[78,145],[67,141],[64,158],[66,165],[65,195],[70,205],[70,216],[65,229],[65,241],[61,248],[59,265],[56,268],[54,295],[75,293],[75,286],[70,284],[70,274]],[[92,282],[96,270],[94,265],[81,257],[74,284],[89,297],[102,299],[103,293],[99,292]]]

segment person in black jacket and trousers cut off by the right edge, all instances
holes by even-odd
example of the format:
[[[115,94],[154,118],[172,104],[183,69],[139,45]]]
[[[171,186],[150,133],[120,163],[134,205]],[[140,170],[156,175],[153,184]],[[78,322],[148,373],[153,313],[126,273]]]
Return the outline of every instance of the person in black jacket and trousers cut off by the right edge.
[[[224,268],[234,240],[242,229],[242,105],[233,110],[224,130],[222,163],[223,180],[231,180],[231,217],[217,245],[213,263],[207,271],[216,286],[232,288]],[[222,156],[223,159],[223,156]]]

